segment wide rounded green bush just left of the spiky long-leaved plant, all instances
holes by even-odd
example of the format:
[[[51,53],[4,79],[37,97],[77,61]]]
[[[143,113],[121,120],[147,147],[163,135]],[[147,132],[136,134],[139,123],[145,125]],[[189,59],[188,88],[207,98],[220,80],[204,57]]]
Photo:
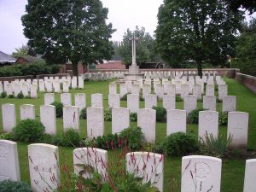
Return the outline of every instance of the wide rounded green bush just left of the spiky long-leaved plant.
[[[183,133],[172,133],[161,143],[164,152],[170,156],[183,156],[198,151],[198,142],[194,137]]]

